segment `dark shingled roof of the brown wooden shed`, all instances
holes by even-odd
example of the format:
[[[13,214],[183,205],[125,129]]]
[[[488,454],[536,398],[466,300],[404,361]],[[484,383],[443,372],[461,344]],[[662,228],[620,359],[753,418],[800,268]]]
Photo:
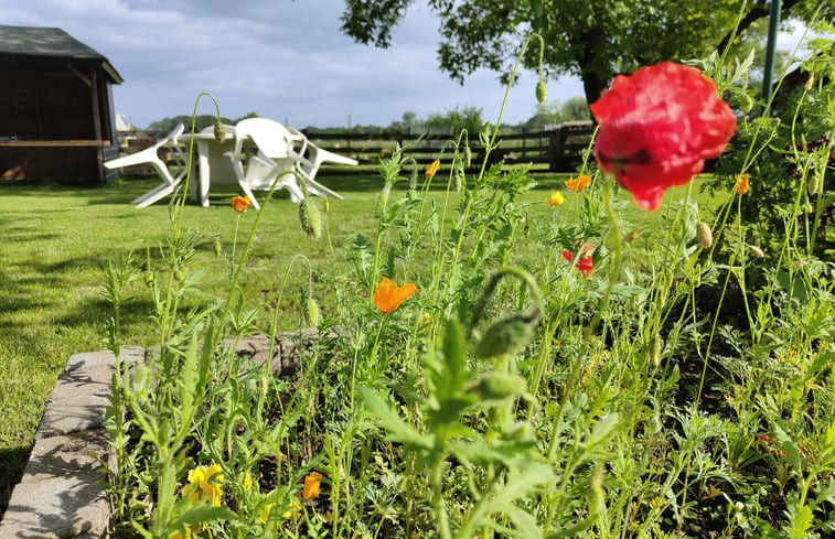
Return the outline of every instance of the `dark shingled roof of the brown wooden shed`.
[[[0,25],[0,55],[100,62],[113,83],[120,84],[124,80],[101,53],[60,28]]]

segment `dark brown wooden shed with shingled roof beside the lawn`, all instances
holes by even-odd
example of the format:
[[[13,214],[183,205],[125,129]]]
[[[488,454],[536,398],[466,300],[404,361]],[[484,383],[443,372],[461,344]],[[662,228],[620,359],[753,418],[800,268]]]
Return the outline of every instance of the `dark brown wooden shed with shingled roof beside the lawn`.
[[[0,181],[104,181],[104,161],[119,154],[121,82],[61,29],[0,25]]]

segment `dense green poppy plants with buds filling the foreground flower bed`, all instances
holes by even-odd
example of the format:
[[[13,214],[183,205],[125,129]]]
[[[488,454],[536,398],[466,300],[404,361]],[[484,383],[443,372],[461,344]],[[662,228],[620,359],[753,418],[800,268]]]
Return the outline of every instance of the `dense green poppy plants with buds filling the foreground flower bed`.
[[[740,91],[745,69],[724,62],[704,66]],[[799,219],[806,185],[832,196],[826,166],[797,168],[782,228],[763,234],[742,206],[768,182],[749,169],[769,138],[713,224],[692,183],[628,222],[632,202],[589,150],[534,218],[525,168],[464,172],[468,137],[493,149],[495,125],[441,150],[443,177],[400,149],[381,163],[376,234],[330,249],[341,271],[290,262],[307,269],[298,327],[319,335],[293,332],[292,373],[237,354],[267,334],[271,357],[288,301],[282,283],[264,324],[240,290],[271,192],[232,231],[217,303],[181,308],[202,277],[182,198],[153,263],[108,267],[117,356],[128,295],[150,294],[159,330],[148,364],[119,365],[107,409],[117,536],[835,533],[835,267]],[[330,245],[325,208],[308,200],[299,218]],[[321,287],[335,291],[324,311]]]

